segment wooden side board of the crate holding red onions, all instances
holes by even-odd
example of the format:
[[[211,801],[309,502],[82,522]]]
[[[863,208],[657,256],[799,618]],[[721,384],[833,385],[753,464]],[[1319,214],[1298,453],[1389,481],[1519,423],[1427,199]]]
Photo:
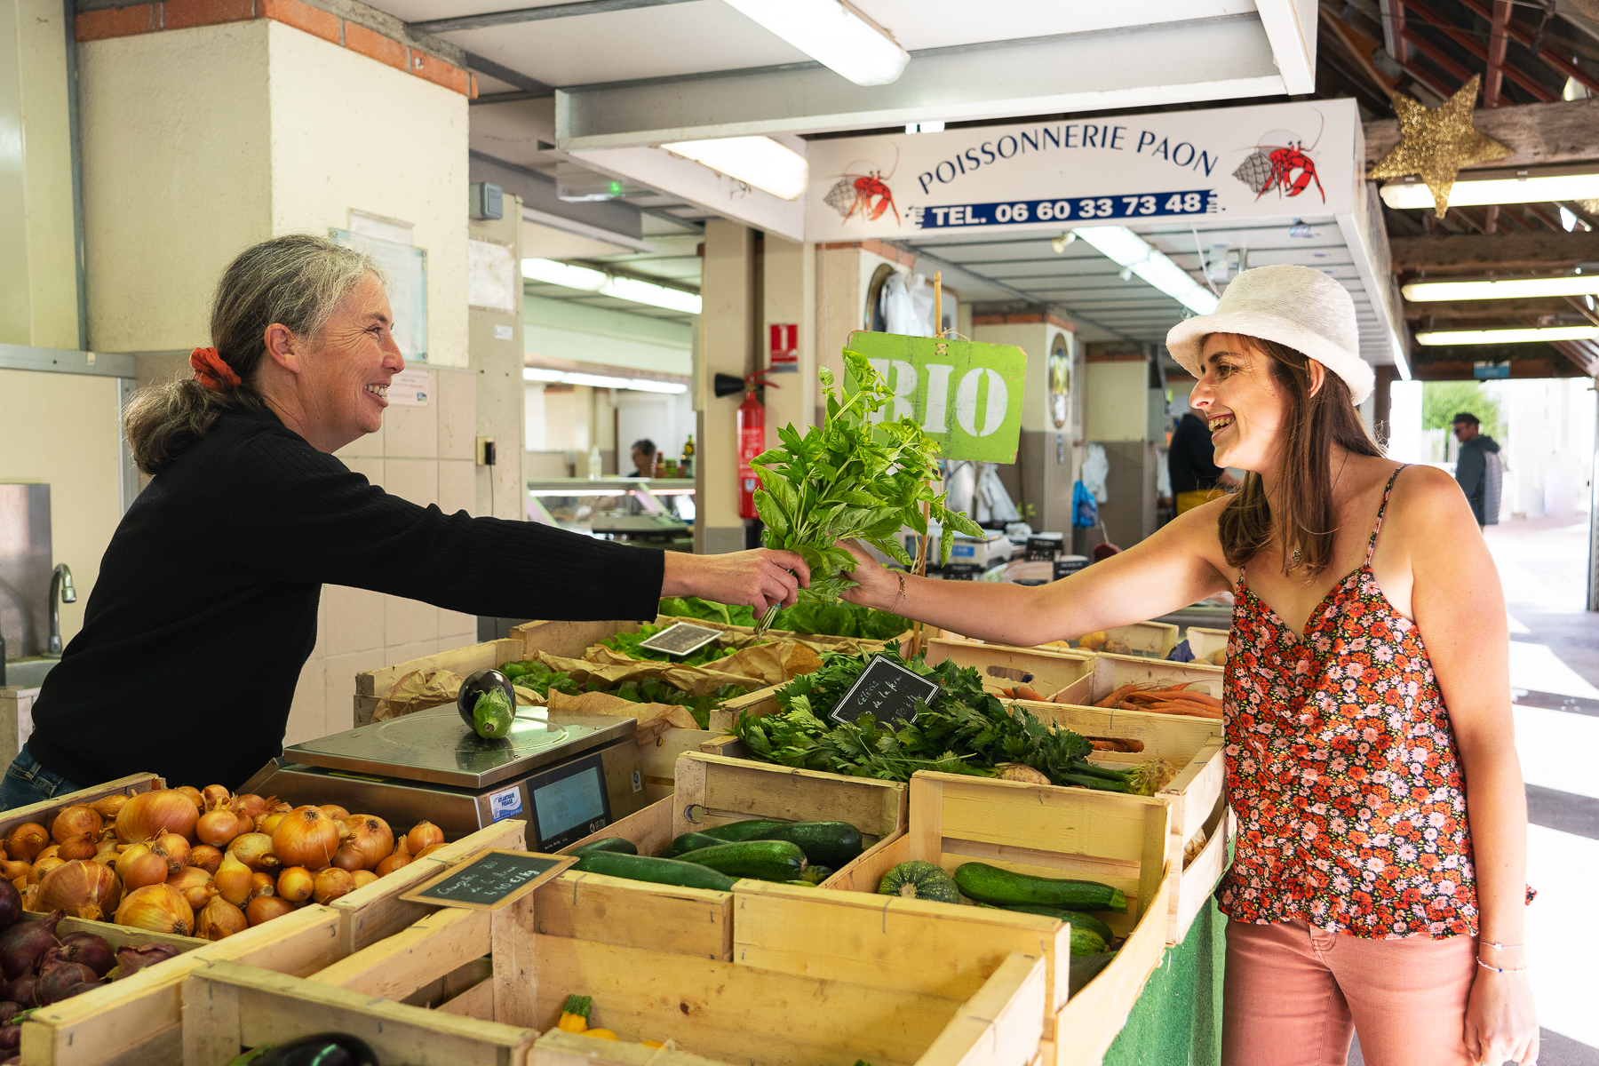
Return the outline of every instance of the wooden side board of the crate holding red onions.
[[[208,962],[229,961],[307,975],[334,962],[337,953],[339,916],[326,906],[301,908],[35,1010],[22,1023],[22,1063],[168,1066],[182,1056],[182,986],[189,973]]]

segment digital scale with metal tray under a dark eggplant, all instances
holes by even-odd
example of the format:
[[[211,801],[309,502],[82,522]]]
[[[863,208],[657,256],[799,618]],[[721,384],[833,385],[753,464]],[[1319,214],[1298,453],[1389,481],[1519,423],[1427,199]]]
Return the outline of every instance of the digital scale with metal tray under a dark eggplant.
[[[397,834],[521,818],[528,847],[553,852],[643,810],[636,732],[633,718],[518,706],[510,734],[484,740],[448,705],[285,748],[240,791],[373,813]]]

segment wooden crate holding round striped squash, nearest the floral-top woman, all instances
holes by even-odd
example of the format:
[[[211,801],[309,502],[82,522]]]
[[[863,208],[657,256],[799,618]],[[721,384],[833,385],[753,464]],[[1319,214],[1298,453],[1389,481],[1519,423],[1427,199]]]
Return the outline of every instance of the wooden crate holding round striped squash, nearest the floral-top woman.
[[[1062,1066],[1097,1063],[1166,949],[1169,895],[1180,874],[1180,865],[1167,861],[1167,801],[921,772],[911,778],[910,804],[905,836],[873,855],[873,861],[857,863],[851,877],[838,885],[846,892],[873,893],[873,906],[884,922],[894,911],[915,909],[979,929],[988,925],[991,937],[1017,937],[1028,930],[1047,935],[1036,925],[1036,916],[875,895],[883,874],[908,860],[937,863],[950,873],[963,863],[983,861],[1043,877],[1084,877],[1127,895],[1127,914],[1102,914],[1126,941],[1116,959],[1078,996],[1067,997],[1068,941],[1057,940],[1059,948],[1044,953],[1049,981],[1044,1039]],[[815,893],[817,903],[839,897],[838,890],[817,889]],[[859,901],[852,906],[860,911]],[[844,925],[846,919],[839,913],[823,922]],[[974,938],[982,935],[975,932]],[[1108,1024],[1111,1018],[1115,1024]]]

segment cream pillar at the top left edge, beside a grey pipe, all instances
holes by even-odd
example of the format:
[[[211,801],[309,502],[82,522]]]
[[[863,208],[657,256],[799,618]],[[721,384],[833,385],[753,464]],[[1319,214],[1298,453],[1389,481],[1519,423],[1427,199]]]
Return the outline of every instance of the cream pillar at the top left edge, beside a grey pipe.
[[[0,344],[78,348],[67,27],[0,0]]]

